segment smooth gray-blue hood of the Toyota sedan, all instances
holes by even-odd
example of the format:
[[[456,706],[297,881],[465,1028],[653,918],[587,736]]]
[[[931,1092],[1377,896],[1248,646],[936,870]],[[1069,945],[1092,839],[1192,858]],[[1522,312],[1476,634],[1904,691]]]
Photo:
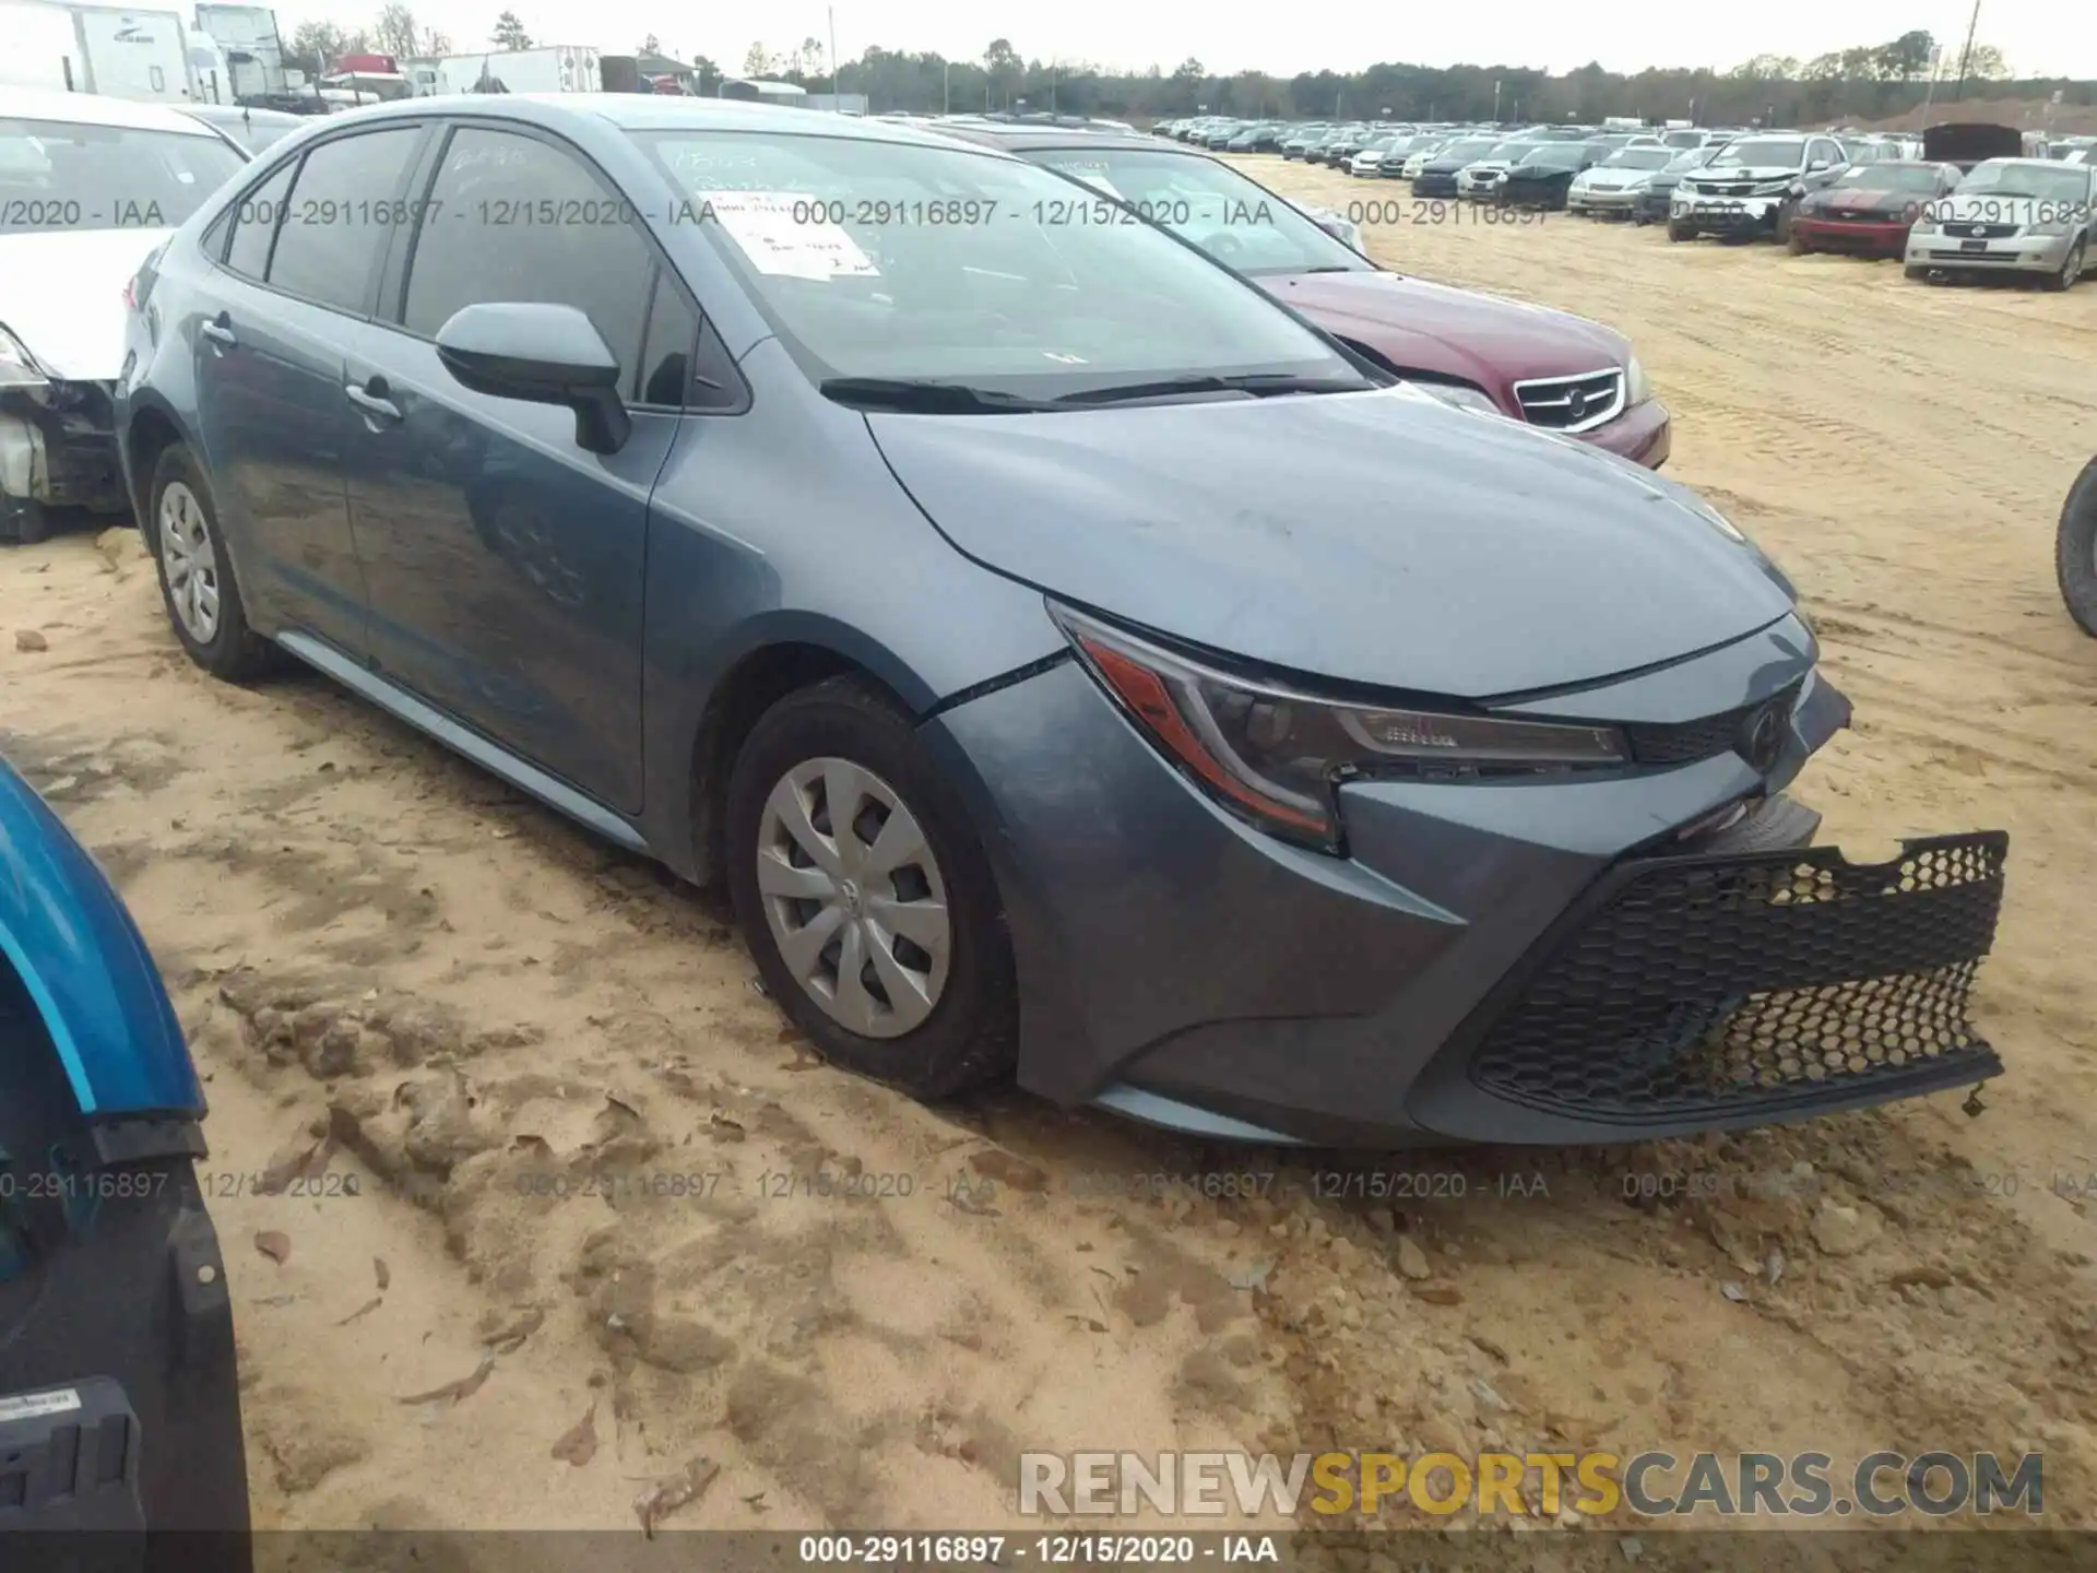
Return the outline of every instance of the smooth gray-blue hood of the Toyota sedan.
[[[866,424],[969,558],[1315,677],[1506,696],[1793,604],[1686,489],[1411,388]]]

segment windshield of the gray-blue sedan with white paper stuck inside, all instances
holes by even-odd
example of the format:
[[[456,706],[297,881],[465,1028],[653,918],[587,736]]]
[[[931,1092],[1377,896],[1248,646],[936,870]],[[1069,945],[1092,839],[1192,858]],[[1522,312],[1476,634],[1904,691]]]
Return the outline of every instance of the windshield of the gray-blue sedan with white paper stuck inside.
[[[847,136],[663,130],[633,141],[684,199],[671,220],[705,235],[816,382],[939,380],[1028,398],[1248,373],[1363,386],[1254,285],[1105,189],[1034,164]],[[1206,164],[1155,157],[1172,172]],[[1244,206],[1204,212],[1250,254],[1269,233],[1254,195],[1273,231],[1288,220],[1273,220],[1279,197],[1244,185]]]

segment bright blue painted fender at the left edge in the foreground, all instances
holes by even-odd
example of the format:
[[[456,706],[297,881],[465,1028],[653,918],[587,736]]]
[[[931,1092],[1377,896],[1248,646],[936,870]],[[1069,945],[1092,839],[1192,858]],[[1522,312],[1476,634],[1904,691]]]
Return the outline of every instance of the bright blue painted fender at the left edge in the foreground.
[[[182,1026],[138,925],[4,761],[0,954],[42,1015],[84,1116],[203,1114]]]

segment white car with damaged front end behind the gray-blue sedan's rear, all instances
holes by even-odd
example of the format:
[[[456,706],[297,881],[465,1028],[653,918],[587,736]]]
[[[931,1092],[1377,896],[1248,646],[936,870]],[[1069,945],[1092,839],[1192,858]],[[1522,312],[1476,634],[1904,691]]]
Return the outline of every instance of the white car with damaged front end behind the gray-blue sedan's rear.
[[[0,88],[0,543],[128,514],[109,390],[138,264],[245,155],[178,109]]]

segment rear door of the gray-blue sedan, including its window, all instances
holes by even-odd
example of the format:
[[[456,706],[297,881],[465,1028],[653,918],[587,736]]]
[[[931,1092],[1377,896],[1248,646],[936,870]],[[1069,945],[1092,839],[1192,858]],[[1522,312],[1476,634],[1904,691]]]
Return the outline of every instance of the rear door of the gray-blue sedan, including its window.
[[[359,432],[342,350],[371,313],[424,128],[331,136],[233,203],[195,336],[197,424],[222,524],[260,627],[365,650],[350,531]]]

